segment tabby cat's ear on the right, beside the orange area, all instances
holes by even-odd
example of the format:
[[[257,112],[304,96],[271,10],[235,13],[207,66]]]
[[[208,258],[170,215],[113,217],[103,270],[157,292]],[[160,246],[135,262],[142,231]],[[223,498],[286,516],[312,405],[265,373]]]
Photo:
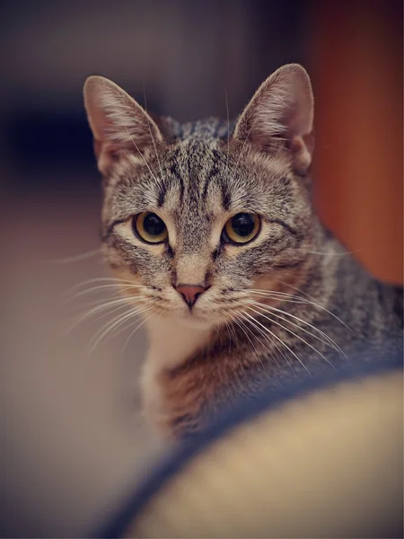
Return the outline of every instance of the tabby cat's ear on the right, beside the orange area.
[[[260,85],[242,112],[233,137],[248,139],[268,153],[284,138],[295,172],[304,174],[312,163],[313,112],[309,75],[302,66],[288,64]]]

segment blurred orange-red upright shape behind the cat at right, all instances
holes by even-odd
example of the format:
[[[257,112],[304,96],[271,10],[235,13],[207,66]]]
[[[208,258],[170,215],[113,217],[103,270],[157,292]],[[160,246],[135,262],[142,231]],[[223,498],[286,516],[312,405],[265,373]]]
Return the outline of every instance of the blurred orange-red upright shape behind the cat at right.
[[[316,207],[375,276],[402,283],[402,2],[314,4]]]

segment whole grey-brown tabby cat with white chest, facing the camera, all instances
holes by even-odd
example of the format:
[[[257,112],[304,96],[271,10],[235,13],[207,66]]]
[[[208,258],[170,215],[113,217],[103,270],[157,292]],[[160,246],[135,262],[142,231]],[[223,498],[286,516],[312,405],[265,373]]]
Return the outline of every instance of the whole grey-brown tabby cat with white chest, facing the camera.
[[[91,76],[102,244],[145,317],[144,409],[162,436],[241,396],[402,346],[402,288],[376,280],[312,208],[313,95],[280,67],[234,122],[148,114]],[[140,307],[139,307],[140,305]]]

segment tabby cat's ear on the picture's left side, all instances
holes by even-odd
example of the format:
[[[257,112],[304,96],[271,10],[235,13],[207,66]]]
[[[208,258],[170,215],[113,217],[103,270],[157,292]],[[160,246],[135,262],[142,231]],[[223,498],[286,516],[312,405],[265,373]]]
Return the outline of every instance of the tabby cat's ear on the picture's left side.
[[[98,168],[106,174],[124,152],[140,160],[162,141],[160,129],[147,112],[115,83],[90,76],[84,84],[84,106],[94,137]]]

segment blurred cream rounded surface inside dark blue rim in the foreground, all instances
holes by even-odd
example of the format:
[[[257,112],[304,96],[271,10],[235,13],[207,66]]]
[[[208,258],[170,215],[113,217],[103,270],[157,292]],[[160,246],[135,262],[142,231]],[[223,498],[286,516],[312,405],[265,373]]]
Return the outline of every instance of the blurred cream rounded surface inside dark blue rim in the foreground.
[[[346,381],[230,429],[125,536],[399,536],[402,382],[402,371]]]

